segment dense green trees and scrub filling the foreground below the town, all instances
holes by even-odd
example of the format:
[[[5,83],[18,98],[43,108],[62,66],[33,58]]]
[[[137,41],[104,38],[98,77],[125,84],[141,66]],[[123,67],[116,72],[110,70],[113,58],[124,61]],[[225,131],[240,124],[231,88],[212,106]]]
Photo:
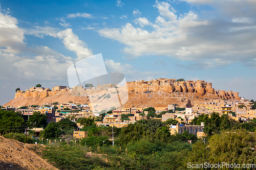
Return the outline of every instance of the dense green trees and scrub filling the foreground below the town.
[[[156,114],[154,110],[147,108],[143,112],[153,115]],[[39,113],[33,116],[31,123],[45,127],[47,117]],[[72,139],[77,128],[71,121],[73,118],[68,116],[58,123],[48,124],[39,137],[57,139],[57,142],[33,148],[59,169],[188,169],[188,162],[256,163],[256,135],[249,133],[256,130],[256,119],[242,123],[226,114],[201,114],[191,123],[204,124],[206,137],[198,139],[187,131],[171,135],[169,125],[178,123],[174,119],[161,122],[145,116],[134,124],[112,128],[96,126],[98,119],[88,117],[77,119],[77,123],[84,126],[81,131],[88,131],[88,137]],[[0,110],[0,132],[7,138],[34,143],[31,135],[22,134],[31,126],[30,122],[25,123],[19,113]],[[65,140],[60,142],[59,139]]]

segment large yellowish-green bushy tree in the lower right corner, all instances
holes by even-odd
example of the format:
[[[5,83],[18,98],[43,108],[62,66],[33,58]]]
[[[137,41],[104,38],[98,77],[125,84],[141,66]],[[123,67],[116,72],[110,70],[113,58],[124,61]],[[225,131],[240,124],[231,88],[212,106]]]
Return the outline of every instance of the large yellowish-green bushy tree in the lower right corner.
[[[216,133],[207,145],[198,142],[193,147],[189,162],[228,162],[229,164],[250,164],[256,162],[256,137],[244,129]],[[224,168],[230,169],[230,168]],[[251,168],[252,169],[252,168]]]

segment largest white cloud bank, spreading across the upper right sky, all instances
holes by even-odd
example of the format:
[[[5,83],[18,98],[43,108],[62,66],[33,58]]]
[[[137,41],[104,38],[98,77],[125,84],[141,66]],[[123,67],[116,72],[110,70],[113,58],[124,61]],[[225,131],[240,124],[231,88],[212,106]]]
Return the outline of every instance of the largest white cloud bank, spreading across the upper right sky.
[[[141,28],[126,23],[121,28],[101,29],[99,34],[125,44],[123,53],[130,54],[131,58],[163,55],[193,61],[196,63],[194,66],[199,68],[224,66],[237,61],[243,64],[251,62],[255,67],[256,48],[253,44],[256,43],[256,24],[251,18],[255,18],[252,16],[256,14],[251,12],[243,16],[243,9],[238,8],[241,3],[244,2],[231,3],[236,14],[223,10],[220,17],[221,11],[218,10],[216,15],[211,11],[214,17],[203,18],[194,11],[177,17],[170,4],[156,1],[154,7],[159,16],[155,22],[140,17],[134,22],[139,23]],[[256,10],[256,6],[247,4],[247,7],[249,11],[252,8]],[[224,20],[225,16],[230,20]],[[143,29],[145,25],[151,28]]]

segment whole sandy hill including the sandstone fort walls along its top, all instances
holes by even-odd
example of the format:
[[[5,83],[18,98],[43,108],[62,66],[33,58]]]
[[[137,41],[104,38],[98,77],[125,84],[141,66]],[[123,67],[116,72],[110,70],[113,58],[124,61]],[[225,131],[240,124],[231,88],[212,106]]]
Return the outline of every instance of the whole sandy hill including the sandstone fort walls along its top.
[[[15,99],[4,106],[44,105],[53,102],[90,104],[91,102],[93,106],[101,105],[102,108],[109,108],[113,103],[119,104],[117,98],[114,97],[116,90],[120,95],[125,92],[128,94],[126,95],[127,101],[122,102],[121,106],[128,108],[167,107],[169,104],[184,107],[187,99],[192,104],[204,103],[213,99],[233,101],[241,99],[238,92],[215,90],[211,87],[211,83],[205,81],[176,82],[175,79],[154,79],[148,82],[143,80],[127,82],[118,88],[112,84],[98,85],[89,89],[84,89],[82,86],[73,87],[73,89],[67,86],[55,86],[52,90],[32,87],[26,91],[17,91]],[[91,101],[87,94],[91,96]],[[108,98],[105,98],[104,95],[108,95]]]

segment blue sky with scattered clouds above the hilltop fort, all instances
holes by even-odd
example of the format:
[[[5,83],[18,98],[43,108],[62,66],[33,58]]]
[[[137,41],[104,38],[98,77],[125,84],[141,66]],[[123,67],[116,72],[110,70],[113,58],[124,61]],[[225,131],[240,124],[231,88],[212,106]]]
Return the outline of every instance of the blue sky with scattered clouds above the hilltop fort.
[[[17,87],[68,86],[102,54],[126,81],[205,80],[256,100],[256,1],[0,1],[0,105]]]

